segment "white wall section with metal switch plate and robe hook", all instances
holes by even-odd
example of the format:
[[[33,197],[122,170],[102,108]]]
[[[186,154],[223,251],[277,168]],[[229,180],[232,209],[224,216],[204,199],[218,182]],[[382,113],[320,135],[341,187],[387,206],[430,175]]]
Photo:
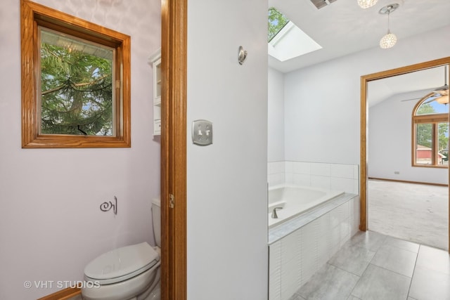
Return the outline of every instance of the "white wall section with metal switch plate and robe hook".
[[[212,145],[186,137],[188,299],[267,299],[266,15],[266,0],[188,2],[187,128],[214,124]]]

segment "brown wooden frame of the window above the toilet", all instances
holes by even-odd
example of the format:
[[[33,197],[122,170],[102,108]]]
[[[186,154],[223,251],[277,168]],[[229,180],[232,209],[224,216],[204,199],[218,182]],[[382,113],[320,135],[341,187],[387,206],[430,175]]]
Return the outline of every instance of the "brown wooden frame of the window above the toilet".
[[[115,136],[39,133],[39,26],[115,49]],[[20,50],[22,148],[131,147],[131,37],[32,1],[21,0]]]

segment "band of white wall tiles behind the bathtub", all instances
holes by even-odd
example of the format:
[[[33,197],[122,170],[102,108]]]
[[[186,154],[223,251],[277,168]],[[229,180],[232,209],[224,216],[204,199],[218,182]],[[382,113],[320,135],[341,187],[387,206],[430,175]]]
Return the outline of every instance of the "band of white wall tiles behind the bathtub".
[[[359,194],[359,166],[322,162],[268,162],[269,186],[293,184]]]

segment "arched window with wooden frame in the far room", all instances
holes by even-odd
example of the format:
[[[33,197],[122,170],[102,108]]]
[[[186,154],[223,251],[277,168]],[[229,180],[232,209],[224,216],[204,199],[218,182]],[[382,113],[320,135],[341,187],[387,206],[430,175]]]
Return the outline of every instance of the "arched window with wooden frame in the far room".
[[[449,107],[436,94],[422,98],[413,110],[413,166],[448,167]]]

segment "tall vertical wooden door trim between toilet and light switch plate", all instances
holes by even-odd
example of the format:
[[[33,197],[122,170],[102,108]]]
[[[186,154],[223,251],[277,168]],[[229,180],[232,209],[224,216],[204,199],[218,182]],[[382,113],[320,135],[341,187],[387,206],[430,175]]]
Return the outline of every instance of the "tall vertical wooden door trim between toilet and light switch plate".
[[[187,297],[186,78],[187,0],[162,1],[161,22],[161,292]],[[169,207],[169,194],[174,207]]]

